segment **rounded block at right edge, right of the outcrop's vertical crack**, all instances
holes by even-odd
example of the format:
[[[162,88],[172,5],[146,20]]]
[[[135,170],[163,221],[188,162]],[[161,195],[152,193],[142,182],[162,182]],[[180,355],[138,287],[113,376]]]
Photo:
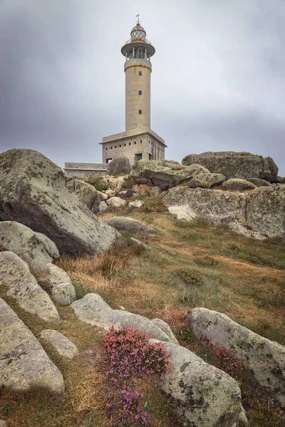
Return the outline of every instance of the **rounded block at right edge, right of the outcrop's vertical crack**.
[[[266,236],[285,236],[285,194],[259,187],[247,194],[247,226]]]

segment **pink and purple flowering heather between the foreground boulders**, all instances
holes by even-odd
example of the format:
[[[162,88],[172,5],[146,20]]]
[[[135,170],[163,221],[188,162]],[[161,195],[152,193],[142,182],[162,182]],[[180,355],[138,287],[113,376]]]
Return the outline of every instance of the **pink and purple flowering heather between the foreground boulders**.
[[[142,393],[135,389],[135,378],[156,374],[164,378],[170,362],[162,344],[148,344],[148,337],[133,327],[111,327],[104,339],[110,384],[108,413],[113,427],[147,427],[150,416],[140,408]],[[158,424],[159,425],[159,424]]]

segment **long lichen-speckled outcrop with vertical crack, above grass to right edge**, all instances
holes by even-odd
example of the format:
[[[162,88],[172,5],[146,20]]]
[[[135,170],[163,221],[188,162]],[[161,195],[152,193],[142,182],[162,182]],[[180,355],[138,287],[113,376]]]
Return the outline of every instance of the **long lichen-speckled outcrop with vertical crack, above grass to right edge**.
[[[227,223],[234,231],[256,238],[285,236],[285,194],[271,187],[240,193],[177,186],[162,201],[180,218],[206,218],[212,225]]]

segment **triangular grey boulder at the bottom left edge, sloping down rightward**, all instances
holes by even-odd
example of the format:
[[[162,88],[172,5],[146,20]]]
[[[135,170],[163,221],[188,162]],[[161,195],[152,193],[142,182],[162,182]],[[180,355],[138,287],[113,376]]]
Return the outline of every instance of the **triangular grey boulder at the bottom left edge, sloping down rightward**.
[[[63,376],[36,337],[0,298],[0,387],[24,391],[46,389],[52,394],[64,390]]]

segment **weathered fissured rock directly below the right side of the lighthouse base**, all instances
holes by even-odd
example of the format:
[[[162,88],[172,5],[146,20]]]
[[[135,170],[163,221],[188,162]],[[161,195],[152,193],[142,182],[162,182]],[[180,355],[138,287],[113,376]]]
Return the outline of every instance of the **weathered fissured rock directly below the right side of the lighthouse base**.
[[[210,188],[220,184],[225,177],[211,174],[199,164],[185,167],[178,162],[167,160],[140,160],[135,164],[130,174],[137,184],[159,186],[162,190],[170,189],[179,184],[188,184],[194,187]],[[136,189],[136,187],[133,187]],[[141,192],[141,191],[140,191]]]

